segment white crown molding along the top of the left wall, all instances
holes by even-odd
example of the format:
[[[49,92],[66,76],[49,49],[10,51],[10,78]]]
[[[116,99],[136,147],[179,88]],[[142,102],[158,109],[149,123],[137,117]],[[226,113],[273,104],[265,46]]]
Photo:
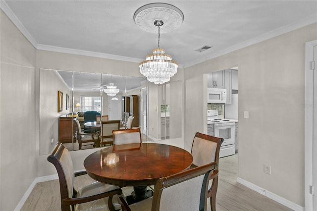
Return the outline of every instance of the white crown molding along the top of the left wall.
[[[4,0],[0,0],[0,8],[9,17],[13,24],[20,30],[24,37],[34,46],[34,48],[37,48],[38,43],[36,42],[36,40],[32,37],[28,30],[26,30],[26,28],[23,26],[23,24],[16,17],[16,15],[13,13],[11,8]]]

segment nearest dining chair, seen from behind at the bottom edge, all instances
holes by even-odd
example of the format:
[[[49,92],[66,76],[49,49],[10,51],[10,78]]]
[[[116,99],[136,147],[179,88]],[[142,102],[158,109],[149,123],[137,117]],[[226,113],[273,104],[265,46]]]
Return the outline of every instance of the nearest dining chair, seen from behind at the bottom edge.
[[[155,185],[153,197],[132,205],[119,197],[122,211],[206,211],[208,181],[215,169],[217,163],[212,162],[162,177]]]

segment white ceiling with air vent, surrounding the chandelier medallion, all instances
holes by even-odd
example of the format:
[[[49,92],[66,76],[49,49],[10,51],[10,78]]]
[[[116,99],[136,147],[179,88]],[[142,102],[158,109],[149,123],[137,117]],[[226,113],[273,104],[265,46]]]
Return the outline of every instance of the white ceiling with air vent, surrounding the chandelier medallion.
[[[38,49],[53,46],[135,61],[144,60],[158,46],[158,35],[141,30],[133,20],[134,12],[151,2],[154,1],[4,1]],[[160,47],[184,67],[317,21],[317,1],[159,2],[175,5],[184,13],[182,25],[160,37]],[[213,48],[202,53],[195,51],[205,45]]]

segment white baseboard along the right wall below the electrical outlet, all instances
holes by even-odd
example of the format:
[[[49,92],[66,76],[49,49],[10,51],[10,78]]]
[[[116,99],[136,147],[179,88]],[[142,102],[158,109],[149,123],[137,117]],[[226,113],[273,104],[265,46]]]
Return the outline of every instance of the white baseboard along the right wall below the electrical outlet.
[[[284,199],[283,197],[280,197],[272,192],[269,192],[267,190],[265,190],[264,188],[261,188],[251,182],[248,182],[244,179],[241,179],[240,177],[237,178],[237,182],[250,188],[251,190],[254,190],[264,196],[266,196],[267,198],[271,199],[271,200],[274,200],[275,202],[278,202],[294,211],[305,211],[305,208],[300,206],[300,205],[297,205],[287,199]]]

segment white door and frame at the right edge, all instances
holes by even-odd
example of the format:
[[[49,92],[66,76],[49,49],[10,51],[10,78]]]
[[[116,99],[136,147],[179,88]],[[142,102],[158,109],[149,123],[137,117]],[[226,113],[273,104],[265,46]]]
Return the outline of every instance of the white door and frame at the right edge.
[[[317,40],[306,43],[305,56],[305,210],[317,210]],[[315,187],[315,188],[314,188]]]

